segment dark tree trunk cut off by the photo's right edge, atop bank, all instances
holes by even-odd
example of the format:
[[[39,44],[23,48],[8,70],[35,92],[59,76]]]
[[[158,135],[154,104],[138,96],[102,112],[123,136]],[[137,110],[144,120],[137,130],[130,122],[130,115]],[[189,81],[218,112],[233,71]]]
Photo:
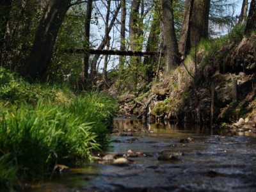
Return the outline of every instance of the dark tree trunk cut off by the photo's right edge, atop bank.
[[[256,0],[252,0],[244,33],[245,35],[250,36],[251,33],[255,30],[256,30]]]

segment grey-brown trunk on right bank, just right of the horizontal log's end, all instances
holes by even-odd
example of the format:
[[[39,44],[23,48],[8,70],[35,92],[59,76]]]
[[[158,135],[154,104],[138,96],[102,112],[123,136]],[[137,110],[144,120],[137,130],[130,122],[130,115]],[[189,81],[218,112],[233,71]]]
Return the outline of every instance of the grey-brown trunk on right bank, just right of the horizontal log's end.
[[[163,18],[163,52],[165,61],[165,73],[179,65],[178,43],[175,35],[173,18],[173,0],[162,0]]]

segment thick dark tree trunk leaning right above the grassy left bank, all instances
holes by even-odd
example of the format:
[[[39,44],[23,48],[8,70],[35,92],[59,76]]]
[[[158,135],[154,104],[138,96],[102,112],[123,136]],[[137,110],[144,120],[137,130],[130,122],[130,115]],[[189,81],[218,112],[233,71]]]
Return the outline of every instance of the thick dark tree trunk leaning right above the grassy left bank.
[[[26,61],[22,75],[28,81],[42,79],[50,65],[58,31],[71,0],[49,1],[44,17],[36,30],[33,47]]]

